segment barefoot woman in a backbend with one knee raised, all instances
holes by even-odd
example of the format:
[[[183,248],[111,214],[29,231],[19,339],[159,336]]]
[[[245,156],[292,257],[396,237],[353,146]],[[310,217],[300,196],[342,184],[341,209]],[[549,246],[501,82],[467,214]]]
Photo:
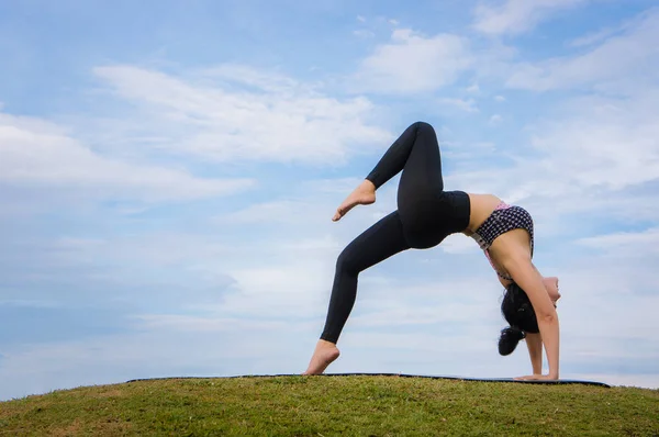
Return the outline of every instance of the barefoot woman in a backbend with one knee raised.
[[[355,238],[338,257],[325,327],[304,374],[323,373],[338,358],[336,341],[355,304],[359,272],[400,251],[427,249],[462,233],[484,250],[506,289],[501,310],[511,326],[501,333],[500,354],[511,354],[526,338],[534,374],[522,379],[558,379],[558,279],[544,278],[532,264],[530,215],[492,194],[444,191],[439,146],[429,124],[407,127],[332,220],[340,220],[358,204],[373,203],[376,190],[400,171],[398,210]],[[541,374],[543,344],[548,374]]]

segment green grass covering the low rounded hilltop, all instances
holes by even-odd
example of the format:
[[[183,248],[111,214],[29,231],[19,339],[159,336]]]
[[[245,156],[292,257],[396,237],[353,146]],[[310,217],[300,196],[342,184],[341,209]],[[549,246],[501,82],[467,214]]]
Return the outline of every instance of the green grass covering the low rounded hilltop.
[[[0,403],[0,435],[659,436],[659,391],[395,377],[153,380]]]

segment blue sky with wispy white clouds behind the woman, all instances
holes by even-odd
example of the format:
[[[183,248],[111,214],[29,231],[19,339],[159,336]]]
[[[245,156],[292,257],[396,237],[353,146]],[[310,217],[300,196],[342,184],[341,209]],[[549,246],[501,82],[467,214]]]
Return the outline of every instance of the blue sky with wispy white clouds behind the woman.
[[[533,215],[561,378],[659,388],[657,41],[650,0],[0,2],[0,400],[304,371],[398,178],[331,217],[416,121]],[[502,294],[463,235],[400,254],[327,371],[528,374]]]

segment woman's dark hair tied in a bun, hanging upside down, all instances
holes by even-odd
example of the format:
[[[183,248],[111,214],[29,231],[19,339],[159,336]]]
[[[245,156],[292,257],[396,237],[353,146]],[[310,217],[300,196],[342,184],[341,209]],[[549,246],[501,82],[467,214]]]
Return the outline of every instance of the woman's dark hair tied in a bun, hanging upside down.
[[[501,313],[511,325],[501,330],[499,337],[499,354],[511,355],[526,333],[539,333],[538,321],[524,290],[516,283],[511,283],[501,302]]]

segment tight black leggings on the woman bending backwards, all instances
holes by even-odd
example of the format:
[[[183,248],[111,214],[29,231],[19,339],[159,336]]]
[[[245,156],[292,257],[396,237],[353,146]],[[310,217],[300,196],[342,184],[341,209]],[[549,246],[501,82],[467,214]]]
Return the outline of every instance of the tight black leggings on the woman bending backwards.
[[[359,272],[400,251],[434,247],[469,224],[467,193],[444,191],[439,145],[433,126],[417,122],[407,127],[366,179],[378,189],[401,170],[398,210],[355,238],[338,256],[321,335],[324,340],[338,340],[355,304]]]

